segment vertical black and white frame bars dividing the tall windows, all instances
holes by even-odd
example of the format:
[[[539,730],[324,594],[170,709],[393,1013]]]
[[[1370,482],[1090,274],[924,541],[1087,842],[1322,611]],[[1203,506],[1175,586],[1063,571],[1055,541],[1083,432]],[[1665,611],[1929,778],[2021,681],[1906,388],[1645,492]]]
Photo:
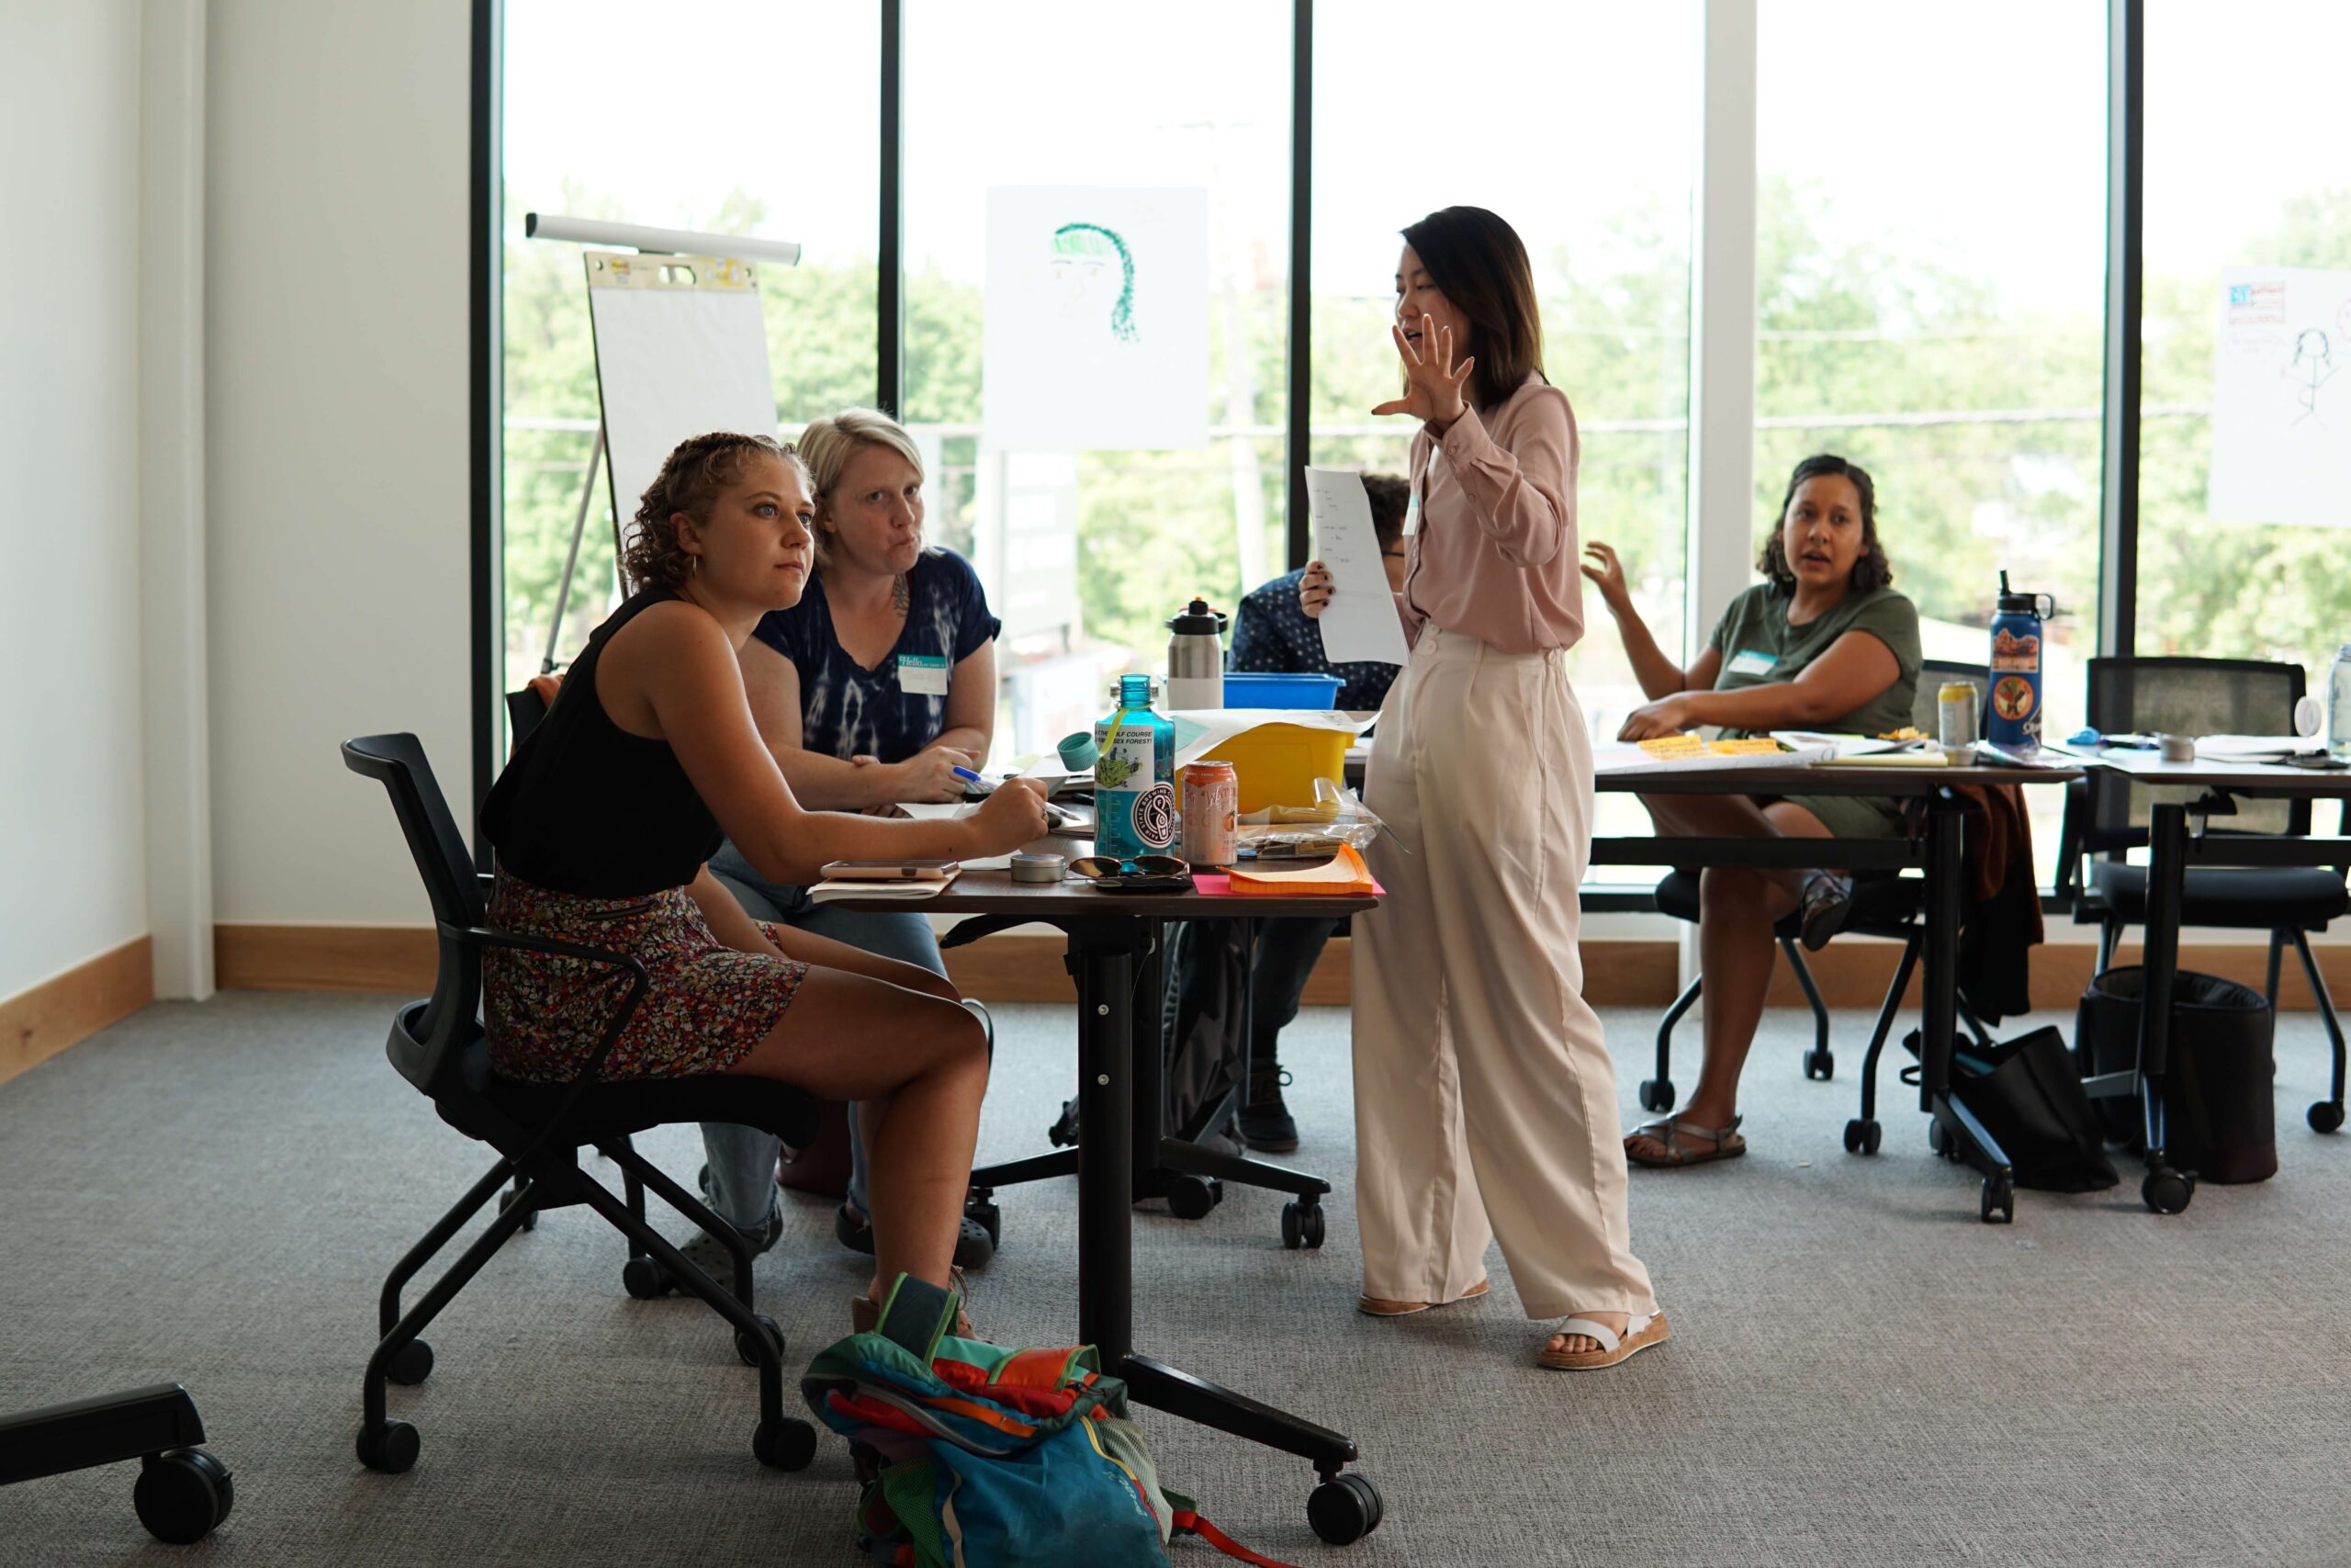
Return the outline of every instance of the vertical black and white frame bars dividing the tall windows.
[[[1712,616],[1749,581],[1754,520],[1754,216],[1759,0],[1688,0],[1700,7],[1700,134],[1693,172],[1690,256],[1690,484],[1683,623],[1695,651]],[[1291,0],[1291,299],[1288,299],[1288,567],[1310,550],[1305,475],[1312,378],[1312,158],[1314,0]],[[2137,625],[2139,557],[2139,308],[2146,169],[2146,0],[2106,0],[2106,369],[2102,386],[2099,635],[2102,656],[2128,656]],[[896,414],[905,390],[905,5],[879,0],[877,388]],[[470,487],[473,487],[473,804],[498,771],[503,712],[503,99],[505,5],[473,0],[470,73]],[[1737,301],[1747,301],[1740,310]],[[475,837],[475,858],[489,865]],[[1594,893],[1622,889],[1594,884]]]

